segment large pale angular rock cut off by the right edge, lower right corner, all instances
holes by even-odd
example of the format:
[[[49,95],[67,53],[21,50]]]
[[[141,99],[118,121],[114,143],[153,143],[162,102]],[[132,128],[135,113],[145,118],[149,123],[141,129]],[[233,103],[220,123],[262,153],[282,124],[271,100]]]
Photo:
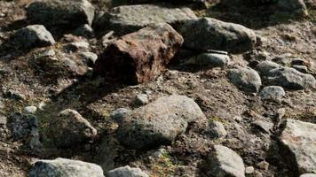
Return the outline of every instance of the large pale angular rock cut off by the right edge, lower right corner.
[[[316,173],[316,125],[296,119],[287,119],[280,135],[283,158],[293,170]]]

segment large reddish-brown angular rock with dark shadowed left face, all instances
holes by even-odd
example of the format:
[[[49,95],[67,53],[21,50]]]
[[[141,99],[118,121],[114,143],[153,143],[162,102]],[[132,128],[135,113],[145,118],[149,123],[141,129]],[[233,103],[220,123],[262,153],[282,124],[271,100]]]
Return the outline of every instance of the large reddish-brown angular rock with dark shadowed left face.
[[[95,71],[110,81],[151,81],[164,70],[182,42],[182,36],[166,23],[145,27],[109,44],[96,61]]]

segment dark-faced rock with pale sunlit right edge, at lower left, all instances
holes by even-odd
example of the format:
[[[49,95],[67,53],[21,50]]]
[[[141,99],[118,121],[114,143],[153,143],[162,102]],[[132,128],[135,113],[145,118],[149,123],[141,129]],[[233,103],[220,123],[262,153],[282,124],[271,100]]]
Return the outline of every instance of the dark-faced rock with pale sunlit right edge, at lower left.
[[[56,118],[51,118],[48,128],[48,137],[58,148],[75,147],[93,139],[97,130],[76,112],[64,110]]]

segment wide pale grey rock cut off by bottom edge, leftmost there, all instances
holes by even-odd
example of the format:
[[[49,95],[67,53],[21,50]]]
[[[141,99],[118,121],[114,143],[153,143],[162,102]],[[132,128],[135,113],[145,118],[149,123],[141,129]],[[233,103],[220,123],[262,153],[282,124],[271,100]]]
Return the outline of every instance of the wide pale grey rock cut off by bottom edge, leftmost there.
[[[53,160],[38,160],[28,172],[29,177],[104,177],[101,166],[72,160],[56,158]]]

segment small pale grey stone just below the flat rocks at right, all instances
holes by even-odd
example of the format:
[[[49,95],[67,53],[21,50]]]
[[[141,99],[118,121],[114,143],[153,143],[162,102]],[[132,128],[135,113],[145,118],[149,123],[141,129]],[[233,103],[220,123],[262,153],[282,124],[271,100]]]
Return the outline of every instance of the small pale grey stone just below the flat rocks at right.
[[[280,86],[268,86],[261,90],[260,97],[263,100],[280,101],[285,96],[285,91]]]

